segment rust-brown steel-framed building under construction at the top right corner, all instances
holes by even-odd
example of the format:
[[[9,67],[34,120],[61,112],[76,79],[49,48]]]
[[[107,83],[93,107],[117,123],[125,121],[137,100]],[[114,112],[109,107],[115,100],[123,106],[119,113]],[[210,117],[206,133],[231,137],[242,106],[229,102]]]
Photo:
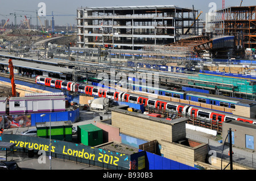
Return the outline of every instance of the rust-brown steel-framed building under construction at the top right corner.
[[[207,32],[235,37],[238,48],[256,47],[256,6],[234,6],[207,15]]]

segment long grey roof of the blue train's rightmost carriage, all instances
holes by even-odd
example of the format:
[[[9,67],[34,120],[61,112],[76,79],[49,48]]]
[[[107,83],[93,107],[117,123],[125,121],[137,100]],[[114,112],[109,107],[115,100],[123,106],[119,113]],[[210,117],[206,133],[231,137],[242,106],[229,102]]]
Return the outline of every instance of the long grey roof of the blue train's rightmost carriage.
[[[245,106],[254,106],[254,104],[256,104],[256,102],[254,100],[246,100],[246,99],[239,99],[239,98],[230,98],[230,97],[226,97],[223,95],[213,95],[213,94],[207,94],[207,93],[202,93],[202,92],[195,92],[195,91],[186,91],[186,94],[193,94],[193,95],[198,95],[198,96],[205,96],[205,98],[215,98],[215,99],[219,99],[219,100],[226,100],[229,102],[234,102],[236,104],[243,104]]]

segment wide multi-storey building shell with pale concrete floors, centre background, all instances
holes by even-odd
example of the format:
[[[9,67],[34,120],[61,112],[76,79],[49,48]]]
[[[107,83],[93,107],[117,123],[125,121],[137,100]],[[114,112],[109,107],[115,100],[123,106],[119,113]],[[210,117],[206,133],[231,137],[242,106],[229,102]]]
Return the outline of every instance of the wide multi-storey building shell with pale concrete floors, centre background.
[[[176,6],[81,8],[77,9],[77,44],[134,50],[170,44],[189,35],[188,28],[198,35],[198,15],[198,10]]]

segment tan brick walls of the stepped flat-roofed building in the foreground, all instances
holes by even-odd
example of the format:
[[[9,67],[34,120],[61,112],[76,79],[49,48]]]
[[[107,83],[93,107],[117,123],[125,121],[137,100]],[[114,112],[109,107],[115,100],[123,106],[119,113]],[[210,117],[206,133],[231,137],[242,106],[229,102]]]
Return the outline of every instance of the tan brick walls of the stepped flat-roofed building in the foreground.
[[[177,143],[185,139],[185,120],[176,119],[172,124],[165,124],[150,116],[139,117],[134,112],[112,111],[112,126],[119,127],[120,132],[143,140],[157,140],[162,146],[161,154],[165,158],[194,166],[196,159],[205,161],[208,153],[207,144],[190,141],[192,146],[185,146]],[[176,122],[175,122],[176,121]]]

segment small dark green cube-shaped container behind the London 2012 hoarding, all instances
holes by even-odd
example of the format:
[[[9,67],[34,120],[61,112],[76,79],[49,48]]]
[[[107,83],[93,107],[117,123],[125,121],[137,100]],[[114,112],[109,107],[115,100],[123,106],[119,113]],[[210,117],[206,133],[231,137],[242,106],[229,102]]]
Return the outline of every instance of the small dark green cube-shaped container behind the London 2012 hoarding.
[[[102,129],[93,124],[77,126],[77,139],[86,146],[96,146],[103,143]]]

